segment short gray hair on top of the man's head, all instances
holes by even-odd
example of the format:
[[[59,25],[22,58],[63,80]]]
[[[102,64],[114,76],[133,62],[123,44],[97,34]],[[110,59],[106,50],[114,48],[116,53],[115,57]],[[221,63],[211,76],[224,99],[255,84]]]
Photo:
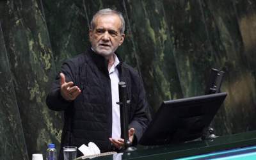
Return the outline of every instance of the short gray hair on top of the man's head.
[[[109,8],[103,9],[103,10],[99,10],[97,13],[95,13],[95,15],[93,15],[92,17],[92,21],[91,21],[91,29],[95,29],[95,19],[96,17],[98,17],[99,15],[118,15],[118,17],[120,18],[121,22],[122,22],[122,26],[120,28],[120,33],[124,33],[125,30],[125,21],[124,21],[124,17],[122,15],[121,12],[118,12],[116,10],[111,10]]]

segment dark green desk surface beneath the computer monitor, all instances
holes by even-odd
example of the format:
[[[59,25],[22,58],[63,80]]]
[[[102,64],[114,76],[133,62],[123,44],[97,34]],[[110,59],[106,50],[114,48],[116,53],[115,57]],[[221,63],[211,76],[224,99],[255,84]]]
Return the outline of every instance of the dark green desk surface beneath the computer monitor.
[[[178,145],[164,145],[145,147],[140,146],[134,152],[124,152],[115,156],[96,157],[94,159],[193,159],[195,156],[204,159],[204,156],[211,153],[224,153],[233,150],[240,152],[241,150],[255,150],[256,147],[256,131],[232,134],[230,136],[221,136],[214,140],[191,141]],[[234,150],[238,148],[237,150]]]

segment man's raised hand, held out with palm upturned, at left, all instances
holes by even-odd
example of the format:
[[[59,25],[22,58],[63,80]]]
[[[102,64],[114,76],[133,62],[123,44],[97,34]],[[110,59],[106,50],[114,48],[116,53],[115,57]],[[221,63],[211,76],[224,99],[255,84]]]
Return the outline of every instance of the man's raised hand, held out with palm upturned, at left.
[[[63,73],[60,73],[60,93],[65,100],[74,100],[81,93],[78,86],[74,86],[72,81],[66,83],[66,78]]]

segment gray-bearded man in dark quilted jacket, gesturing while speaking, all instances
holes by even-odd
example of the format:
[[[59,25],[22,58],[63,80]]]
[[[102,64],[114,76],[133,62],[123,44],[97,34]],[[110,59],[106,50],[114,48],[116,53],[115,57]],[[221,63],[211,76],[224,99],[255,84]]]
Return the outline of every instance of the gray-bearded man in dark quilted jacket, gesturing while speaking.
[[[110,9],[97,12],[89,32],[92,48],[66,61],[47,96],[47,106],[65,111],[59,159],[64,146],[80,147],[90,141],[101,152],[120,149],[118,82],[127,84],[129,140],[136,145],[148,125],[148,104],[143,83],[133,68],[115,54],[124,42],[125,22],[121,13]],[[81,156],[81,152],[77,152]]]

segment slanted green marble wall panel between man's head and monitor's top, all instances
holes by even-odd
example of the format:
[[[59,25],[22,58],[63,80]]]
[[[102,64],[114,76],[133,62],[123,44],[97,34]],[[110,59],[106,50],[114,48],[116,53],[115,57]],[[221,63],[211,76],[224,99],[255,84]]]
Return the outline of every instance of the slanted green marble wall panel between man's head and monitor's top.
[[[163,100],[183,97],[168,16],[161,1],[127,1],[125,6],[148,101],[156,111]]]

